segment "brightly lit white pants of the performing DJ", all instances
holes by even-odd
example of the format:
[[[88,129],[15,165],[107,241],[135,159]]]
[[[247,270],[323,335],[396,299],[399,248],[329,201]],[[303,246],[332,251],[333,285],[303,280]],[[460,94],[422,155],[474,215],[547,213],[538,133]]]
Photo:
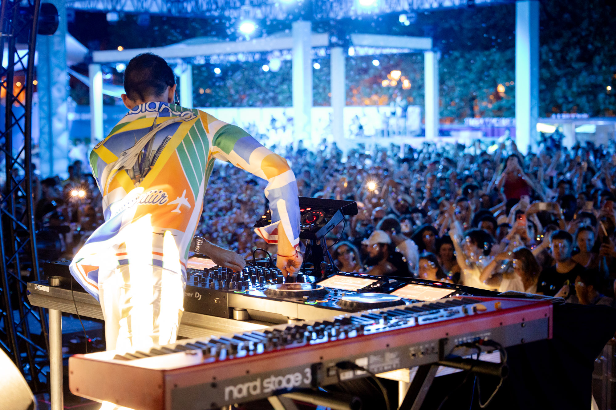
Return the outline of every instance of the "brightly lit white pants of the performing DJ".
[[[176,341],[184,312],[184,277],[152,265],[122,265],[99,283],[107,350],[147,352]],[[101,409],[124,409],[103,402]]]

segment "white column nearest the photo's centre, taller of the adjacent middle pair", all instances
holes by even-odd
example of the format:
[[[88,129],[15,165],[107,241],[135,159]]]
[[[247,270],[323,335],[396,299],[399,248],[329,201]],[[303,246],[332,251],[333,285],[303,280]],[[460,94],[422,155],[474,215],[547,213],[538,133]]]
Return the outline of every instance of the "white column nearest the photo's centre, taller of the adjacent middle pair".
[[[295,140],[312,145],[310,115],[312,111],[312,23],[299,21],[291,25],[293,33],[293,126]]]

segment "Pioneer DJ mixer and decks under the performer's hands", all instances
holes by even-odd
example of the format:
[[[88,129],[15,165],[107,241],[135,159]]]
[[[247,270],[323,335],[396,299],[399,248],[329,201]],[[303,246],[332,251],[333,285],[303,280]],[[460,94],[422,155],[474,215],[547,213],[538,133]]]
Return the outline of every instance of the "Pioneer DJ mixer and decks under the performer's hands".
[[[195,266],[195,259],[189,266]],[[323,316],[442,299],[495,295],[471,287],[416,278],[309,271],[285,278],[277,268],[247,266],[240,272],[188,268],[184,308],[189,312],[286,323]],[[325,273],[325,275],[322,275]]]

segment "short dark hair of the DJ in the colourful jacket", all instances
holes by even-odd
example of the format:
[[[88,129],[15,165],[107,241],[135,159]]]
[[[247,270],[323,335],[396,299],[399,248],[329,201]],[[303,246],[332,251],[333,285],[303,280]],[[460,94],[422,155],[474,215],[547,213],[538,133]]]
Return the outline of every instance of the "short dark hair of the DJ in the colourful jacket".
[[[138,54],[124,70],[124,91],[133,101],[163,94],[176,84],[176,76],[167,62],[156,54]]]

